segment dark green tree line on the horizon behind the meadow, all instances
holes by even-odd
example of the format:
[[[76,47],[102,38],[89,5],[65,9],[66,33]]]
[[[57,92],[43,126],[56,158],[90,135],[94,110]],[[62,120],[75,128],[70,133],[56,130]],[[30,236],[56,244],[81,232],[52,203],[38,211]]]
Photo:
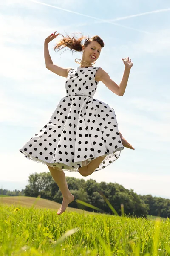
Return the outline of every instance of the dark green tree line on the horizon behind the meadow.
[[[121,215],[121,205],[124,207],[126,215],[136,217],[146,217],[149,215],[167,218],[170,216],[170,200],[152,195],[137,195],[133,189],[125,189],[118,183],[106,183],[104,181],[97,183],[96,180],[79,179],[66,177],[68,188],[75,199],[91,204],[103,212],[112,214],[111,208],[106,203],[105,198],[113,206],[116,212]],[[45,198],[57,203],[62,203],[62,193],[51,176],[50,172],[34,173],[28,177],[28,185],[22,191],[10,191],[0,189],[1,195],[8,196],[30,196]],[[77,203],[76,200],[69,204],[69,207],[94,211],[90,207]]]

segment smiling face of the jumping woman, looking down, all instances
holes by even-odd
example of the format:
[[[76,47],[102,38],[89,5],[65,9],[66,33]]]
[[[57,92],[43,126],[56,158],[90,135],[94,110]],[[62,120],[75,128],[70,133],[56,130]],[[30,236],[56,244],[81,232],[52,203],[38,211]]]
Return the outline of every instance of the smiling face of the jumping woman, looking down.
[[[88,46],[83,46],[82,49],[84,50],[83,59],[92,63],[99,58],[102,47],[97,41],[91,41]]]

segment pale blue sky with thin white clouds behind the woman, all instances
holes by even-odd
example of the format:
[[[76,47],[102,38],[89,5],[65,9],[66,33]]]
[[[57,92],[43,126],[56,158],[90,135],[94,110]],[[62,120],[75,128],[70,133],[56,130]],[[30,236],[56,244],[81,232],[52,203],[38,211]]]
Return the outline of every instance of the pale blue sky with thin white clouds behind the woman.
[[[94,99],[114,108],[119,131],[135,151],[124,148],[105,169],[83,177],[119,183],[140,195],[170,199],[170,3],[169,0],[6,0],[0,1],[0,188],[25,189],[30,174],[46,165],[20,153],[66,96],[65,78],[45,68],[44,40],[57,31],[99,35],[105,46],[95,67],[120,84],[122,58],[133,61],[124,96],[101,81]],[[82,52],[55,52],[59,35],[48,44],[54,64],[79,67]],[[62,54],[61,54],[62,53]]]

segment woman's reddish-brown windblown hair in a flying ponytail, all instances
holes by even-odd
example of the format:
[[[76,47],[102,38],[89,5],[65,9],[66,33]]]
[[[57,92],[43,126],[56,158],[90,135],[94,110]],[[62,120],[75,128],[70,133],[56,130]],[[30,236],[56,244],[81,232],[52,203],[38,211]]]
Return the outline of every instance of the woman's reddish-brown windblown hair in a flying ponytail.
[[[82,33],[80,33],[82,35]],[[60,34],[61,35],[61,34]],[[61,50],[65,47],[68,47],[66,50],[71,50],[72,53],[74,52],[82,52],[82,46],[84,45],[85,47],[90,44],[90,41],[97,41],[101,47],[104,47],[104,42],[102,38],[100,38],[98,35],[94,35],[92,38],[87,38],[85,36],[81,36],[80,38],[76,38],[75,34],[71,38],[69,35],[66,35],[65,37],[62,35],[62,39],[55,45],[54,51],[56,50]],[[82,45],[82,40],[85,39],[84,44]]]

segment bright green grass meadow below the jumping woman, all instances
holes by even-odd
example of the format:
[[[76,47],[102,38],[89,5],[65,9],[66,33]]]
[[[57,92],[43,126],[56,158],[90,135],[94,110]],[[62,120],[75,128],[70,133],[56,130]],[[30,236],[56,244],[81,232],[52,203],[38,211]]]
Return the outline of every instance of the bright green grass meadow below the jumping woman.
[[[56,209],[35,208],[45,199],[33,200],[30,207],[1,201],[0,256],[170,255],[169,218],[148,220],[74,208],[57,215]]]

